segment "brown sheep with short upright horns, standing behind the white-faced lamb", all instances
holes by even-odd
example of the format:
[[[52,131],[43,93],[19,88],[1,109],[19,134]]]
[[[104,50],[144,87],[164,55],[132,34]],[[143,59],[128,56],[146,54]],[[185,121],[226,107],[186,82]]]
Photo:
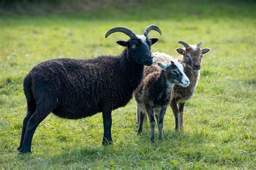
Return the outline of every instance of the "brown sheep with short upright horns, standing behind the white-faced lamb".
[[[171,93],[171,108],[175,117],[175,129],[183,129],[183,111],[185,102],[189,100],[195,93],[197,83],[200,76],[201,58],[210,52],[210,48],[200,48],[203,41],[197,45],[188,45],[186,42],[179,41],[185,48],[177,48],[176,51],[182,55],[181,62],[186,64],[184,68],[185,74],[190,79],[190,86],[181,87],[174,85]],[[153,53],[155,62],[165,62],[173,58],[163,53]]]

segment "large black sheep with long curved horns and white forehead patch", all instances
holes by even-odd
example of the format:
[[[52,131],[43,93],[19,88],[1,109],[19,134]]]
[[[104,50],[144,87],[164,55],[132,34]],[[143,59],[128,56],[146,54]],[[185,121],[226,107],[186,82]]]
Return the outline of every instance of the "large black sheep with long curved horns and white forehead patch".
[[[28,113],[23,121],[20,152],[31,152],[31,141],[39,123],[53,114],[69,119],[88,117],[102,112],[104,124],[103,145],[111,138],[111,112],[124,107],[131,99],[134,89],[143,79],[144,65],[150,66],[153,55],[151,45],[158,39],[148,39],[150,25],[142,36],[125,27],[115,27],[130,37],[117,41],[126,48],[119,56],[99,56],[96,59],[55,59],[39,63],[25,76],[23,87],[28,103]]]

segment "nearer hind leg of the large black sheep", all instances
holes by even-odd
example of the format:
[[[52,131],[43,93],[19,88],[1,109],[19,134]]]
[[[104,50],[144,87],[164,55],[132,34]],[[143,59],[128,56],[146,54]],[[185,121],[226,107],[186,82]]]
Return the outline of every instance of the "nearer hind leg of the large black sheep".
[[[43,119],[50,114],[51,111],[46,112],[44,109],[36,108],[34,114],[29,118],[28,123],[26,124],[26,129],[24,133],[24,139],[22,147],[19,149],[20,152],[28,153],[31,152],[31,142],[33,138],[33,134],[39,123],[43,121]]]

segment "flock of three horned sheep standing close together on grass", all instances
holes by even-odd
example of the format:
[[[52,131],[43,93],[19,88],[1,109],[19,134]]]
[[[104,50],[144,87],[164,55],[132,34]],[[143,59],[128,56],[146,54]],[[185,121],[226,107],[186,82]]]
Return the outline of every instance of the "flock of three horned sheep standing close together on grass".
[[[156,25],[147,26],[142,35],[126,27],[113,27],[105,38],[115,32],[122,32],[130,38],[117,41],[124,47],[119,55],[87,60],[52,59],[33,67],[23,81],[27,114],[18,151],[31,152],[33,134],[50,113],[79,119],[101,112],[102,144],[111,144],[111,113],[125,107],[133,95],[138,107],[138,134],[142,133],[145,118],[149,117],[150,139],[156,141],[156,118],[158,139],[162,140],[164,115],[169,105],[174,114],[175,129],[183,129],[185,103],[196,91],[201,58],[211,49],[200,48],[203,41],[197,45],[179,41],[184,46],[176,49],[181,55],[179,59],[161,52],[152,53],[151,46],[158,41],[147,37],[152,30],[161,34]]]

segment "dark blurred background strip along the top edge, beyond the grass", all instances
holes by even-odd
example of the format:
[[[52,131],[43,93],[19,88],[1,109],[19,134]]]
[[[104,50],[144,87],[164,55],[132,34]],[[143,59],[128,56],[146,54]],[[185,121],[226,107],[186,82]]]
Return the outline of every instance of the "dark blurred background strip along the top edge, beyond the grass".
[[[167,0],[168,1],[168,0]],[[171,3],[213,3],[212,0],[182,0],[172,1]],[[165,4],[166,0],[0,0],[0,14],[45,14],[45,13],[72,13],[72,12],[90,12],[109,7],[115,8],[133,8],[145,4]],[[256,3],[255,0],[215,0],[215,2],[246,4]]]

